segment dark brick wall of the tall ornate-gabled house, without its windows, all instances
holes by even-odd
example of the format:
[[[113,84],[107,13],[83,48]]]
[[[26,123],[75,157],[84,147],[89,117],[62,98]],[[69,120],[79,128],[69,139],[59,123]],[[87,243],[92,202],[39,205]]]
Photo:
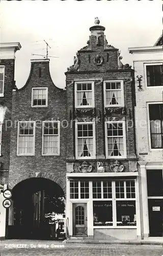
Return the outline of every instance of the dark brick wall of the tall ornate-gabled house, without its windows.
[[[90,28],[91,30],[91,28]],[[74,81],[75,80],[92,80],[95,82],[94,97],[95,97],[95,111],[96,111],[96,161],[105,159],[105,132],[104,132],[104,99],[103,99],[103,81],[121,79],[124,81],[124,104],[126,108],[126,114],[112,114],[109,118],[116,117],[116,120],[125,120],[129,123],[132,121],[132,127],[126,125],[126,150],[128,159],[136,159],[135,155],[135,134],[134,134],[134,72],[130,69],[118,68],[118,49],[111,46],[105,46],[105,37],[103,34],[99,37],[97,45],[97,37],[95,35],[90,36],[88,47],[78,51],[77,57],[79,60],[78,70],[68,70],[66,72],[67,82],[67,116],[69,118],[69,124],[74,120]],[[98,66],[95,63],[95,57],[99,55],[103,58],[102,65]],[[101,80],[101,82],[100,82]],[[91,117],[92,118],[92,117]],[[78,119],[79,120],[79,119]],[[68,158],[67,161],[75,160],[75,127],[74,122],[72,127],[68,127]],[[114,159],[112,159],[114,160]],[[75,160],[83,162],[81,160]],[[92,162],[96,166],[95,162]],[[77,163],[75,163],[77,164]],[[124,161],[126,171],[128,165]],[[77,165],[78,166],[78,165]],[[106,164],[107,166],[107,164]],[[95,167],[95,172],[97,172]],[[109,170],[108,170],[109,171]],[[77,168],[75,168],[77,172]]]

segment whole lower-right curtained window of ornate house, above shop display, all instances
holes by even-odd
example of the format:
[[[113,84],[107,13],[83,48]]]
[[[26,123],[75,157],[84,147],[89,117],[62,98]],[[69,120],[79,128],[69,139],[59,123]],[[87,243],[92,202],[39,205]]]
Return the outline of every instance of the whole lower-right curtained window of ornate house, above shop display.
[[[105,122],[105,139],[107,158],[126,157],[125,121]]]

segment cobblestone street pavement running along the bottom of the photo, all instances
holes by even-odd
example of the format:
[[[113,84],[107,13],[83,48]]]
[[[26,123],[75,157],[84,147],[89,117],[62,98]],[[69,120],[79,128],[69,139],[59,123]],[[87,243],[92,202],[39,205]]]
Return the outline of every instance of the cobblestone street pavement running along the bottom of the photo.
[[[10,248],[16,246],[26,248]],[[44,248],[39,248],[40,246]],[[88,245],[36,240],[1,241],[0,250],[1,256],[163,256],[163,248],[160,245]]]

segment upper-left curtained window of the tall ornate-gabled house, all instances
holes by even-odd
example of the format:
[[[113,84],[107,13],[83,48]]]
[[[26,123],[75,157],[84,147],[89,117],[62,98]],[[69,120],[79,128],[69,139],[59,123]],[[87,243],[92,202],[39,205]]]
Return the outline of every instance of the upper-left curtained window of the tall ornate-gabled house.
[[[93,82],[75,83],[75,108],[94,108]]]

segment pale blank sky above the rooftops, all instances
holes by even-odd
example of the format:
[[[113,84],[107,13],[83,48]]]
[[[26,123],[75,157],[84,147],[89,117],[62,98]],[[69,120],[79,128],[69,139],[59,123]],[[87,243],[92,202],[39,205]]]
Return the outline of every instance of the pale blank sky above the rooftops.
[[[16,52],[16,86],[24,86],[30,74],[31,59],[50,56],[53,83],[65,88],[65,72],[73,65],[73,56],[87,45],[89,28],[98,17],[105,27],[108,45],[121,51],[122,63],[132,65],[129,47],[153,46],[162,31],[161,0],[2,0],[1,42],[20,42]],[[42,58],[42,57],[41,57]]]

